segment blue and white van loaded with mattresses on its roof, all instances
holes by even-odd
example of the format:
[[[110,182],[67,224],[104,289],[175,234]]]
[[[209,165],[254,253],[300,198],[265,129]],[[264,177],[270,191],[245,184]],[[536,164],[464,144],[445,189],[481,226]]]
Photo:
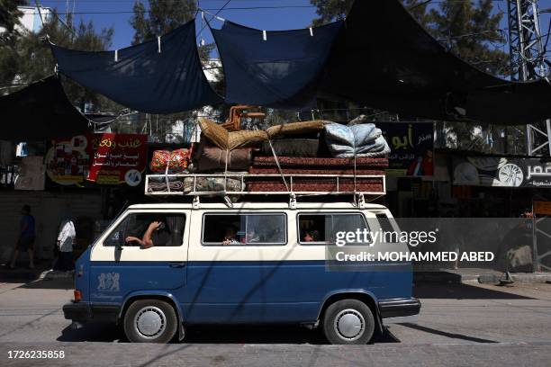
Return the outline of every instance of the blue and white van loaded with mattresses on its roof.
[[[351,202],[134,205],[78,259],[65,318],[119,323],[131,342],[181,340],[191,325],[294,323],[366,344],[419,314],[411,264],[332,271],[326,250],[337,231],[374,231],[384,218],[384,206]]]

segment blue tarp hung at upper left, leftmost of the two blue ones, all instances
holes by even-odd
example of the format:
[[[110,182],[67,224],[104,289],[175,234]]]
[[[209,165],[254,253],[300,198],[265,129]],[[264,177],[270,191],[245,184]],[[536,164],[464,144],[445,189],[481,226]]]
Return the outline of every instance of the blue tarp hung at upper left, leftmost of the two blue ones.
[[[140,112],[172,113],[221,103],[204,76],[194,21],[161,37],[115,51],[84,52],[51,45],[59,72]]]

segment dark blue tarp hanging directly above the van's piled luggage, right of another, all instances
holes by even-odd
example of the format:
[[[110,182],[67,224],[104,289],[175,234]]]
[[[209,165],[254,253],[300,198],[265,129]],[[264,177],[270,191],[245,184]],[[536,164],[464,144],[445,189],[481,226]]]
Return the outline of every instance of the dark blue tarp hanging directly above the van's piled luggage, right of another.
[[[226,78],[226,102],[301,108],[314,102],[321,70],[343,22],[263,31],[233,22],[212,29]]]

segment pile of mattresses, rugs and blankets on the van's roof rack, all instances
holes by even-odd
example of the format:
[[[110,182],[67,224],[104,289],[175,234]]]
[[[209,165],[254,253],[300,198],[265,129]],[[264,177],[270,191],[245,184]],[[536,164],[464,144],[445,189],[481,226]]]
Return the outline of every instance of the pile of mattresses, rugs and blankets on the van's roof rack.
[[[212,176],[179,180],[165,177],[161,182],[164,187],[158,183],[158,190],[170,187],[171,191],[180,192],[285,192],[290,180],[284,182],[281,174],[294,175],[294,192],[384,190],[382,177],[362,177],[384,176],[384,168],[388,167],[386,156],[390,149],[381,130],[372,123],[356,121],[346,126],[330,121],[304,121],[272,126],[266,131],[230,132],[202,119],[199,126],[201,142],[193,154],[185,156],[185,164],[159,156],[160,163],[154,157],[156,164],[151,169],[175,173],[176,168],[183,168],[185,173]],[[243,181],[239,175],[248,177]],[[339,177],[338,181],[336,175],[348,177]],[[152,190],[150,185],[149,191]]]

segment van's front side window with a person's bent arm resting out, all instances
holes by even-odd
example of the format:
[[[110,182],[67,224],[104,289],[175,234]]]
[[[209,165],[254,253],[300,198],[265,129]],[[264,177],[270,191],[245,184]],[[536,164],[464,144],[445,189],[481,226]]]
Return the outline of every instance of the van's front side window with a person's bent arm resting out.
[[[113,229],[104,246],[143,246],[151,228],[152,246],[182,246],[185,215],[179,213],[131,213]]]

